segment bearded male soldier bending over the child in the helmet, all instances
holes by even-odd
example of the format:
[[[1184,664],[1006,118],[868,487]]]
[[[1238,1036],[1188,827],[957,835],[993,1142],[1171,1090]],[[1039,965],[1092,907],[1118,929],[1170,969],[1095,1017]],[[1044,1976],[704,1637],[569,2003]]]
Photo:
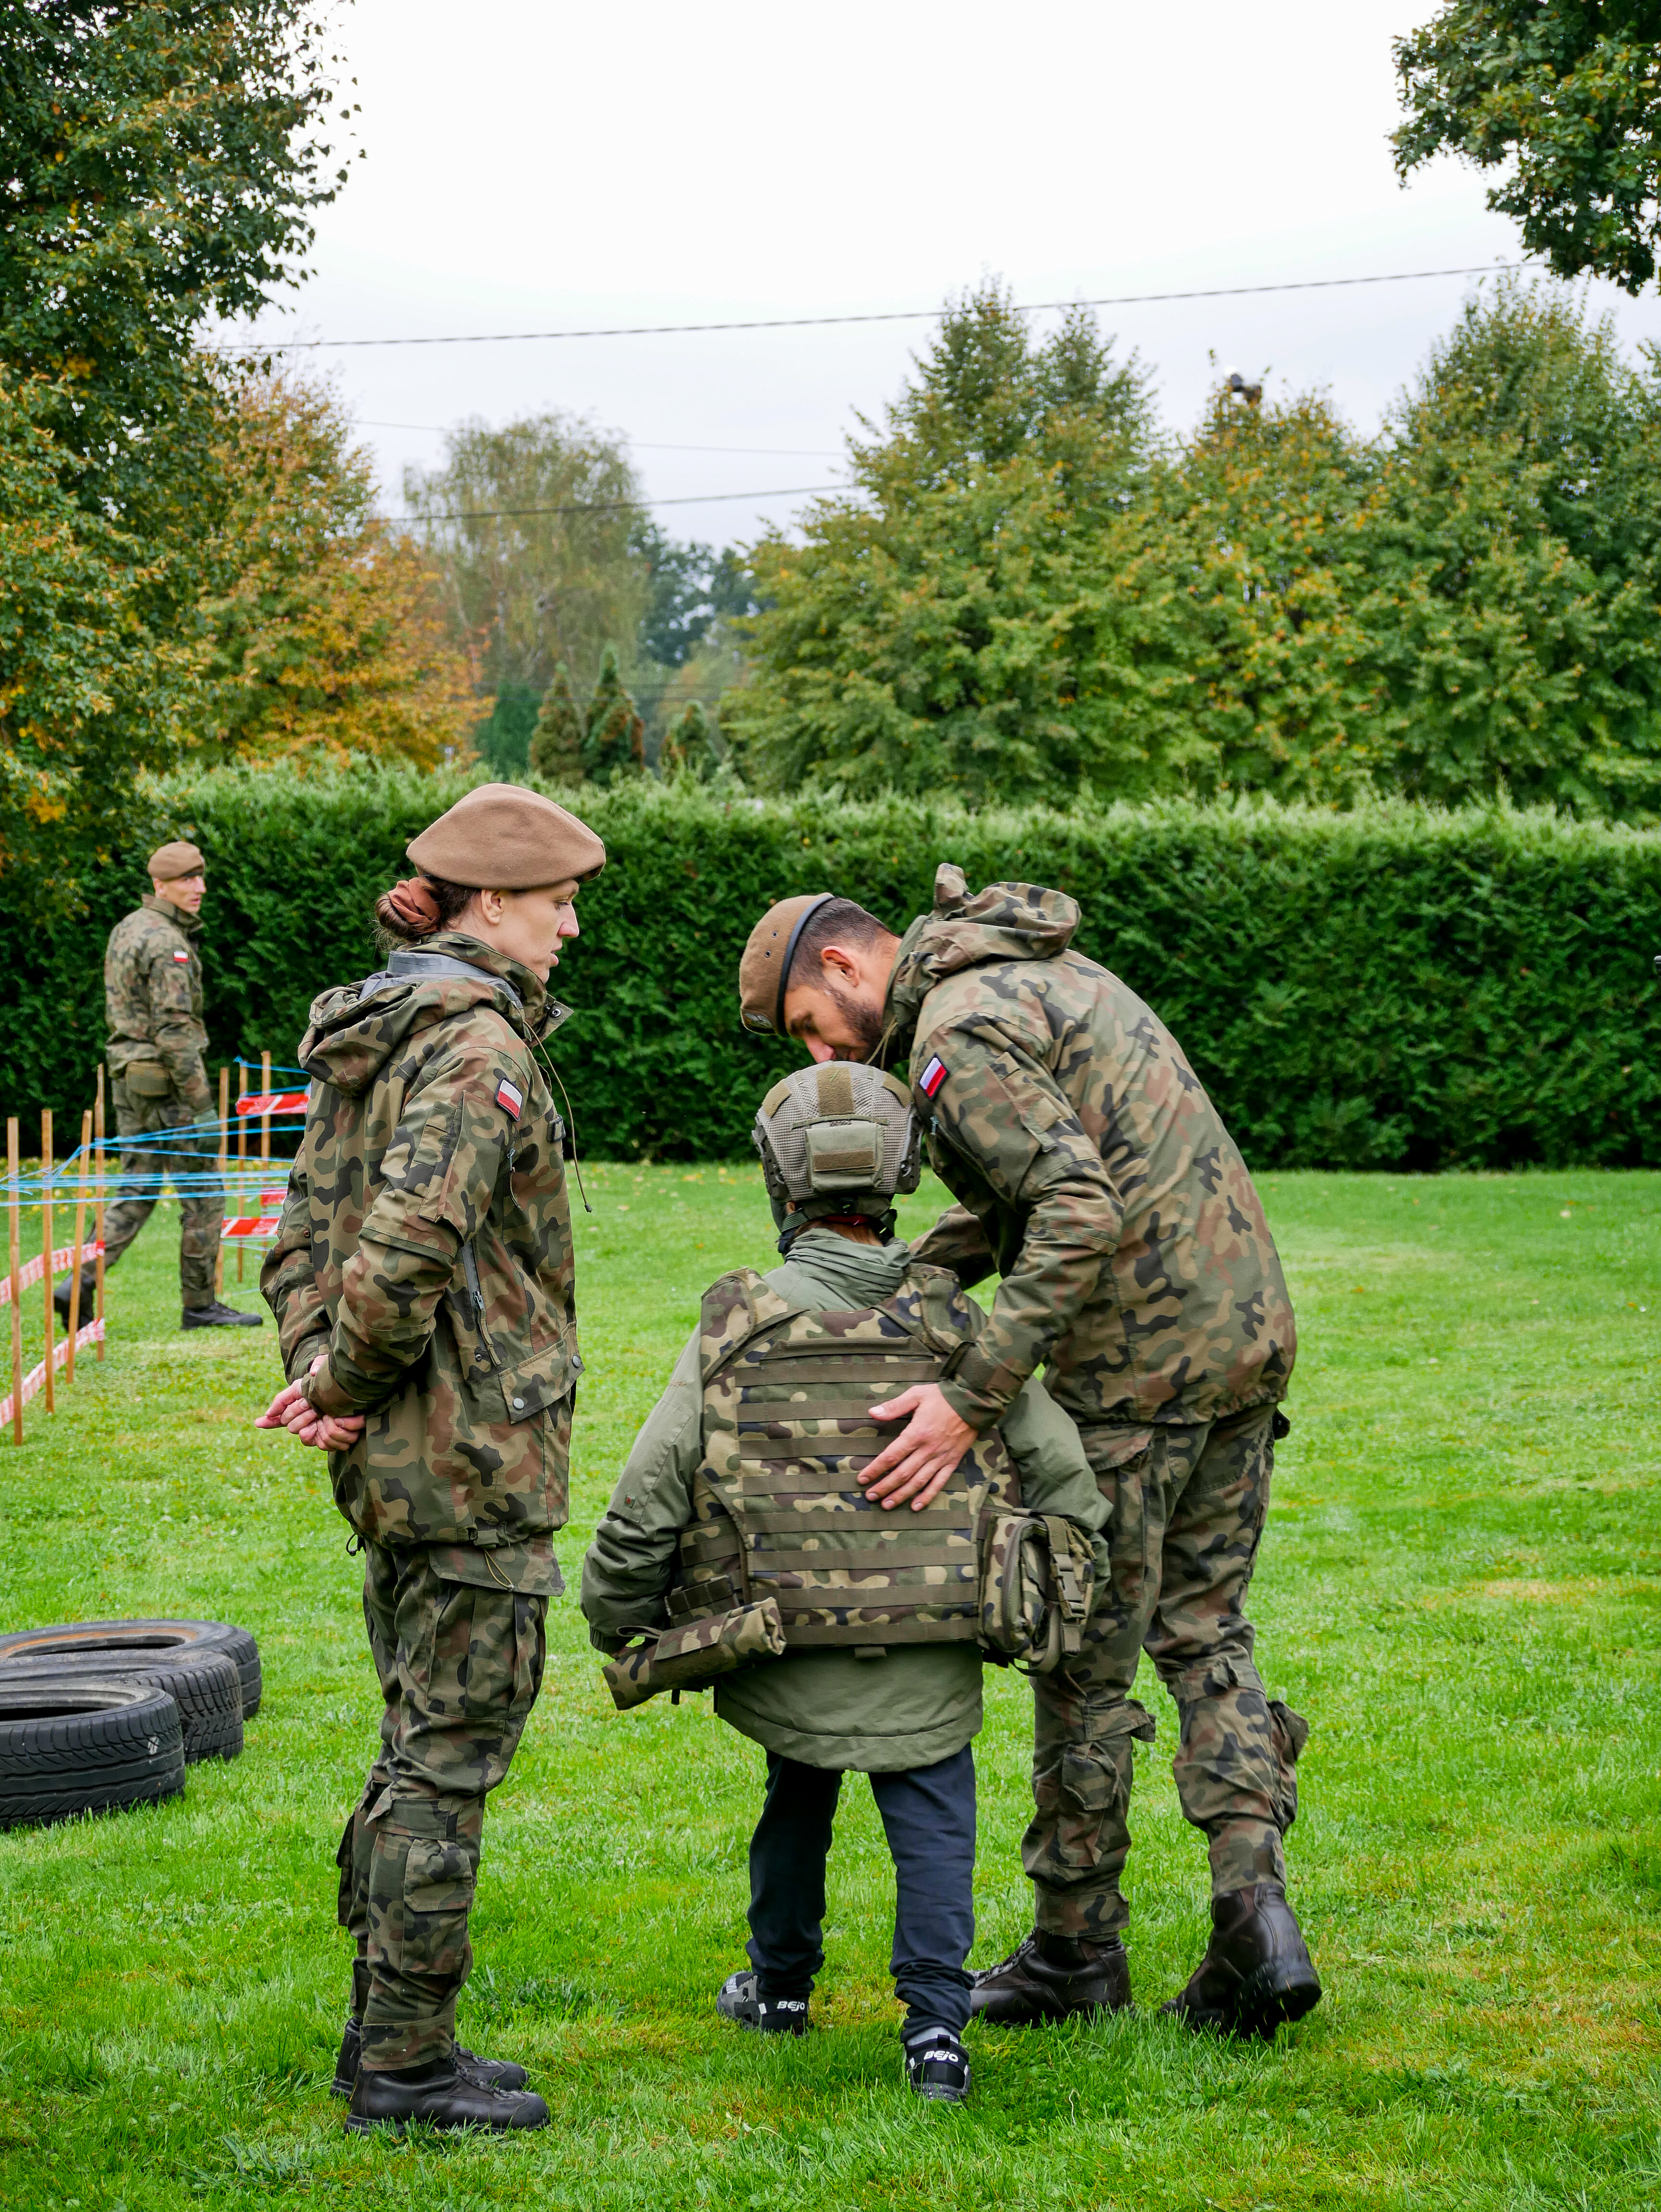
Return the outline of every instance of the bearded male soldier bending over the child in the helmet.
[[[1177,1792],[1212,1863],[1212,1940],[1170,2002],[1197,2028],[1272,2035],[1320,1997],[1281,1838],[1305,1723],[1270,1703],[1245,1593],[1292,1380],[1292,1301],[1245,1161],[1181,1046],[1073,951],[1079,909],[1033,883],[936,876],[896,938],[845,898],[772,907],[739,967],[743,1022],[816,1062],[909,1060],[929,1157],[960,1203],[918,1248],[1002,1276],[986,1329],[860,1478],[922,1504],[1042,1365],[1112,1509],[1112,1588],[1084,1650],[1035,1681],[1037,1927],[975,1978],[975,2011],[1037,2022],[1130,2002],[1119,1876],[1130,1699],[1146,1650],[1177,1699]]]

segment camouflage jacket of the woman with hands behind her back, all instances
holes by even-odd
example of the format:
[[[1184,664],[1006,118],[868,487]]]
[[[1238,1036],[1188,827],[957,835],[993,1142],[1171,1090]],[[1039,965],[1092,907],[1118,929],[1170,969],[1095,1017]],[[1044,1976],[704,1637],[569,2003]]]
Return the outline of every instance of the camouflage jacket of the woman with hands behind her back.
[[[564,1018],[529,969],[458,933],[325,991],[261,1274],[290,1380],[310,1376],[321,1411],[367,1413],[330,1455],[352,1526],[524,1590],[560,1588],[582,1371],[564,1124],[531,1048]]]

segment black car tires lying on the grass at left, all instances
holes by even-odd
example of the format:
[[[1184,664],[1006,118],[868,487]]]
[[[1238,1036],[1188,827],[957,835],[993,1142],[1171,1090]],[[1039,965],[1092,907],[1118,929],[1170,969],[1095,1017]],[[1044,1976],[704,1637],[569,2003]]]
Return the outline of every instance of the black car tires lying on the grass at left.
[[[0,1827],[148,1805],[234,1759],[259,1646],[230,1621],[66,1621],[0,1635]]]

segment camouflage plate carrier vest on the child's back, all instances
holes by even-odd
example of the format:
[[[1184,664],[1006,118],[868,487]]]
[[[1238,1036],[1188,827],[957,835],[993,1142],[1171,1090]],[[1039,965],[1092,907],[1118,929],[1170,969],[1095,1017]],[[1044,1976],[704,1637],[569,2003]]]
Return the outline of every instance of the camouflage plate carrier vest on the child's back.
[[[774,1597],[790,1648],[973,1644],[982,1522],[1020,1506],[997,1429],[920,1513],[885,1513],[858,1486],[905,1427],[874,1422],[871,1405],[938,1383],[971,1340],[944,1267],[911,1267],[882,1305],[827,1312],[748,1267],[721,1276],[703,1298],[703,1467],[670,1621]]]

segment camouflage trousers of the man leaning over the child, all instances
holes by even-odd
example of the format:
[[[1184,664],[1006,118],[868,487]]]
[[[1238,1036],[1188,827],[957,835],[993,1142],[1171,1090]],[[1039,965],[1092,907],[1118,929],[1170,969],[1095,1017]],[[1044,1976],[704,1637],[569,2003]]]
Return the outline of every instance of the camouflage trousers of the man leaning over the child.
[[[1307,1725],[1270,1703],[1252,1666],[1245,1593],[1274,1469],[1274,1413],[1258,1407],[1190,1429],[1084,1429],[1112,1502],[1110,1586],[1084,1650],[1033,1681],[1037,1814],[1022,1860],[1037,1924],[1112,1936],[1130,1911],[1119,1891],[1130,1829],[1132,1743],[1152,1714],[1130,1697],[1146,1650],[1177,1701],[1172,1772],[1183,1814],[1210,1847],[1212,1893],[1283,1882],[1281,1838],[1298,1809]]]

